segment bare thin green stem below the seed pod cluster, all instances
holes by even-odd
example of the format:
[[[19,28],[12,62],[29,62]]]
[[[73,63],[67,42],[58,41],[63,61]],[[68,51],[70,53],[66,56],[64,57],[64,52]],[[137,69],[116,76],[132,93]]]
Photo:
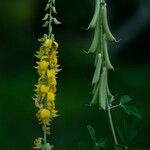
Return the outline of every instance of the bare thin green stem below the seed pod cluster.
[[[118,140],[117,140],[117,137],[116,137],[114,124],[113,124],[113,120],[112,120],[112,116],[111,116],[111,110],[107,109],[107,111],[108,111],[108,118],[109,118],[109,123],[110,123],[111,132],[112,132],[112,135],[113,135],[113,139],[114,139],[115,145],[118,145]]]

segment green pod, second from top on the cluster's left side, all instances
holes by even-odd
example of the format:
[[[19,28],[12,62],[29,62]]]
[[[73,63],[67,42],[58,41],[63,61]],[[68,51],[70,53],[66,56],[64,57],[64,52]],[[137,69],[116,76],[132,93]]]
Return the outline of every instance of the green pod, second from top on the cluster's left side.
[[[88,53],[94,53],[96,51],[98,43],[99,43],[99,36],[100,36],[100,29],[99,29],[99,23],[97,23],[95,32],[94,32],[94,38],[88,50]]]

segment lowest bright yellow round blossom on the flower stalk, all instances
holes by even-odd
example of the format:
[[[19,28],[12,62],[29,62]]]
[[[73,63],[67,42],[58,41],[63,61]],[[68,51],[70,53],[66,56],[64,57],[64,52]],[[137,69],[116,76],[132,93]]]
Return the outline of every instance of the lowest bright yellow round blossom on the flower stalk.
[[[49,124],[51,113],[48,109],[42,108],[37,112],[36,116],[38,120],[40,121],[40,123],[46,125],[46,124]]]

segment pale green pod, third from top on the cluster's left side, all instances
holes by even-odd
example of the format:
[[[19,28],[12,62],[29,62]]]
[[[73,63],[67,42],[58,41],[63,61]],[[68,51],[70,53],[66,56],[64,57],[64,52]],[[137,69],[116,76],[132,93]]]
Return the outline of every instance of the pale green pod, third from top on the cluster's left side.
[[[102,66],[102,55],[99,53],[98,54],[98,62],[97,62],[96,69],[94,72],[92,84],[95,84],[98,82],[98,80],[100,78],[101,66]]]

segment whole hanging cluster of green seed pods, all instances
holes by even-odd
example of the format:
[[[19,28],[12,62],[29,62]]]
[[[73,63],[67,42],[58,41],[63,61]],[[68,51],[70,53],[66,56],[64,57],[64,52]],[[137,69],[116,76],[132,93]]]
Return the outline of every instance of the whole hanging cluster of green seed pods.
[[[95,0],[95,3],[94,15],[88,26],[88,29],[93,28],[95,30],[88,53],[96,53],[95,72],[92,80],[93,98],[90,104],[99,102],[99,108],[105,110],[109,99],[112,97],[108,87],[108,70],[114,69],[109,59],[107,42],[116,41],[116,39],[109,29],[105,1]]]

